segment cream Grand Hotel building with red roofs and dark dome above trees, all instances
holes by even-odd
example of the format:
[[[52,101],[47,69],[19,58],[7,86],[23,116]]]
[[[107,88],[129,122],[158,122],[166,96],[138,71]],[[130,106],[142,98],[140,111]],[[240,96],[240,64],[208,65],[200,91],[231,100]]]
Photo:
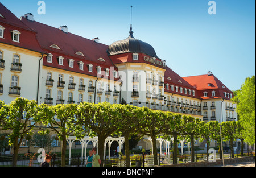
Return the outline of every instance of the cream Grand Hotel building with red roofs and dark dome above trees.
[[[180,77],[132,28],[108,46],[32,14],[18,19],[0,3],[0,100],[16,97],[48,105],[126,102],[205,122],[237,120],[233,92],[212,72]]]

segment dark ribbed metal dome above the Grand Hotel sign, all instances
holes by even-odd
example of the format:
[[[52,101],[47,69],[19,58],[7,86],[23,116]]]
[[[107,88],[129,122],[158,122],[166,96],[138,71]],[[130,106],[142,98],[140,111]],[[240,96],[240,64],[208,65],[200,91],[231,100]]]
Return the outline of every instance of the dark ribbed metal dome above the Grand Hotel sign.
[[[148,56],[158,58],[155,53],[155,49],[150,44],[135,39],[133,37],[133,31],[130,31],[129,33],[130,36],[128,38],[110,44],[108,48],[108,55],[118,55],[126,52],[136,52],[144,53]]]

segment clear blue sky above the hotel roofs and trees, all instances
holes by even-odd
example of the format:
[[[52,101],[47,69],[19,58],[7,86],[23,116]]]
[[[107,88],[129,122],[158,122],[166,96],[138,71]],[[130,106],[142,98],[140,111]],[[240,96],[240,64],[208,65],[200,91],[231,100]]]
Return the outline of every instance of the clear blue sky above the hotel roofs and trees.
[[[45,0],[39,15],[37,0],[1,0],[18,18],[34,14],[36,21],[110,45],[130,31],[133,6],[134,37],[154,47],[156,54],[181,77],[213,74],[230,90],[255,75],[255,1],[216,0]]]

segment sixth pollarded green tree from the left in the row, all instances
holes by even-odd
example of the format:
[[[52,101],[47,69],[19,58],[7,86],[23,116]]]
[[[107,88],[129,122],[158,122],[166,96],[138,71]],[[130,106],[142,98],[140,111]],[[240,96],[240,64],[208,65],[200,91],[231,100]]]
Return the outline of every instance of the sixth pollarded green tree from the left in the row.
[[[183,134],[184,131],[184,120],[181,114],[172,114],[167,112],[167,125],[163,130],[164,137],[170,138],[172,136],[174,138],[174,164],[177,164],[177,153],[178,150],[178,143],[179,143],[179,136]]]

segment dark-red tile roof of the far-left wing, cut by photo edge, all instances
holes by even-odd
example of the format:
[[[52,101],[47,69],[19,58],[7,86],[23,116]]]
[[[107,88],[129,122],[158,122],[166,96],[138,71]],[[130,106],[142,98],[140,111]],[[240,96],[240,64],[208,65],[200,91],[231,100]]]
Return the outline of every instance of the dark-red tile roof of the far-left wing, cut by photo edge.
[[[0,25],[5,28],[3,38],[0,38],[0,43],[14,45],[16,47],[30,49],[32,51],[43,53],[43,49],[40,48],[38,41],[36,40],[35,31],[28,28],[22,23],[10,10],[0,3],[0,13],[3,18],[0,17]],[[20,40],[13,42],[11,31],[18,30],[20,34]]]

